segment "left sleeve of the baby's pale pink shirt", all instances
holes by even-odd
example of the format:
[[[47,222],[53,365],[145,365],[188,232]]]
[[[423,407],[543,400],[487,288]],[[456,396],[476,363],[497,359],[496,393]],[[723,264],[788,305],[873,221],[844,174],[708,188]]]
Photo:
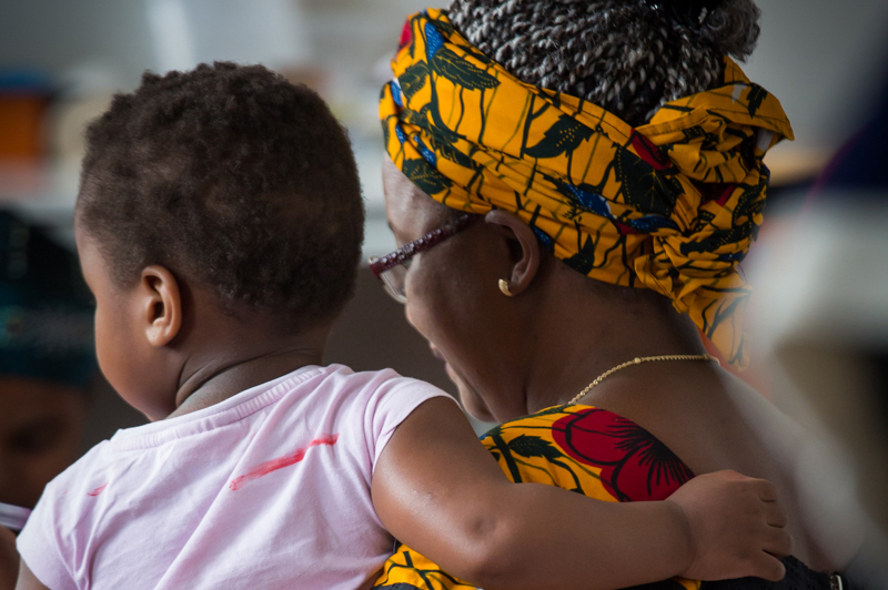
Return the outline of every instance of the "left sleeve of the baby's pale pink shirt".
[[[47,486],[16,541],[16,548],[28,569],[43,586],[51,590],[78,590],[58,542],[58,498],[54,491],[52,484]]]

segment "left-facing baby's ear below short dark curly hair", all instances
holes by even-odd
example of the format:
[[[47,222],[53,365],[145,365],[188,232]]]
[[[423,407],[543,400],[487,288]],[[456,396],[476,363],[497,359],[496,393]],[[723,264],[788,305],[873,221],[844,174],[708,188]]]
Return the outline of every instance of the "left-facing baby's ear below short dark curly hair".
[[[182,297],[173,274],[159,265],[142,271],[145,336],[151,346],[167,346],[182,328]]]

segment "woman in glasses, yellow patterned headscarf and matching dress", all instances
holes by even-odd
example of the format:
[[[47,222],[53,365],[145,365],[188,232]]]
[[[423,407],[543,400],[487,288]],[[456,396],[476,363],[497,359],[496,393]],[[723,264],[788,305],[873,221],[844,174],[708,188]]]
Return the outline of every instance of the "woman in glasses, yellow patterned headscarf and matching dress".
[[[728,57],[751,52],[758,14],[751,0],[455,0],[408,19],[380,110],[406,245],[372,268],[466,409],[506,423],[483,440],[513,480],[656,500],[731,468],[791,496],[737,406],[788,426],[698,335],[744,364],[737,265],[765,152],[793,136]],[[784,583],[823,587],[804,563],[839,563],[799,523],[790,503],[801,562]],[[377,587],[464,586],[402,548]]]

